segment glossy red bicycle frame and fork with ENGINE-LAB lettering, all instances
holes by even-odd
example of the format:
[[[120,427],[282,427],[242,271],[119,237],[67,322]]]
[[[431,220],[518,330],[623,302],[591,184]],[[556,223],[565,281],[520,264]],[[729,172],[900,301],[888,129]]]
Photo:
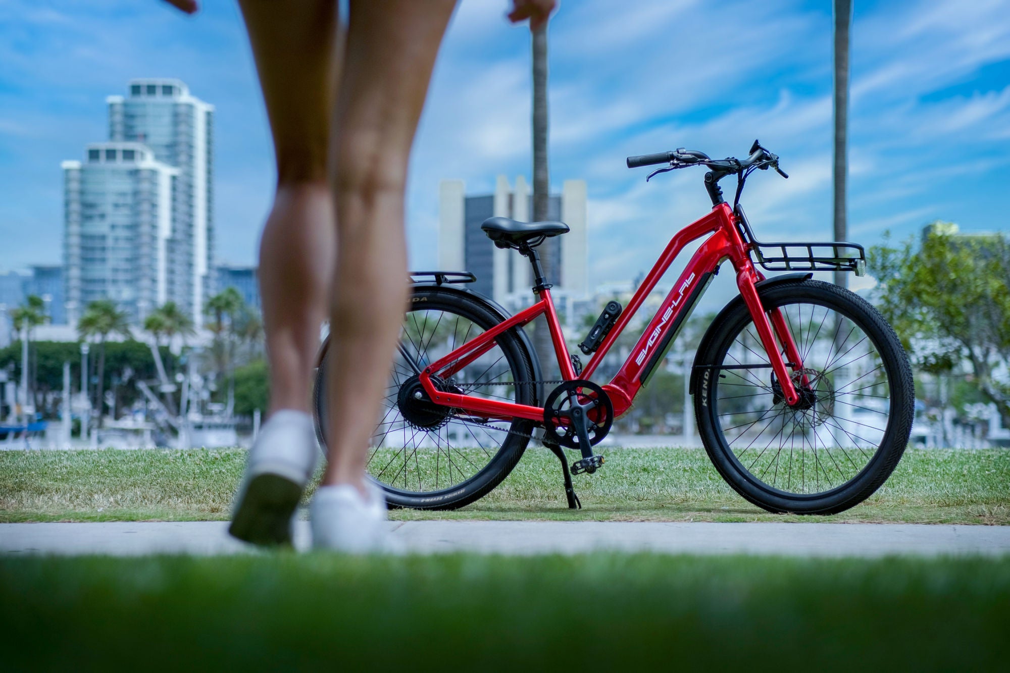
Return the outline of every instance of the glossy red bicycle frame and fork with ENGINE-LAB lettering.
[[[748,245],[740,236],[733,211],[725,202],[718,203],[707,215],[674,234],[651,271],[648,272],[634,293],[631,302],[621,312],[617,322],[600,344],[600,348],[594,354],[593,359],[587,363],[580,376],[576,376],[575,368],[572,366],[572,359],[565,343],[561,323],[558,320],[558,312],[550,297],[550,290],[542,288],[539,291],[539,301],[532,306],[475,336],[445,357],[425,367],[418,377],[421,385],[436,404],[457,407],[480,416],[542,421],[543,407],[442,392],[435,388],[430,377],[437,375],[442,379],[447,379],[490,351],[494,347],[495,339],[502,332],[512,328],[520,328],[539,315],[543,315],[550,331],[550,340],[553,343],[562,378],[566,381],[590,379],[674,260],[688,244],[706,235],[709,237],[688,262],[677,283],[660,304],[655,315],[652,316],[638,343],[635,344],[628,359],[610,383],[603,386],[603,390],[607,392],[613,402],[615,417],[620,416],[630,408],[634,396],[647,381],[652,370],[662,363],[691,310],[712,277],[718,273],[719,265],[727,259],[736,272],[736,286],[750,311],[772,370],[782,386],[783,397],[789,404],[796,404],[799,401],[799,394],[793,385],[790,371],[797,372],[803,369],[802,358],[779,309],[766,311],[761,304],[755,283],[765,280],[765,276],[751,263]],[[783,360],[781,350],[784,350],[789,358],[788,363]]]

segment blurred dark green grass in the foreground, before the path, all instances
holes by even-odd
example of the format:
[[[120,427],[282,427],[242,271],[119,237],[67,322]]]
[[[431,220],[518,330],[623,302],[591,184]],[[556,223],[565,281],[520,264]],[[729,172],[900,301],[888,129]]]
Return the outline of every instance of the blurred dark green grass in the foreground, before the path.
[[[7,671],[1005,670],[1010,657],[1010,558],[6,558],[0,605]]]

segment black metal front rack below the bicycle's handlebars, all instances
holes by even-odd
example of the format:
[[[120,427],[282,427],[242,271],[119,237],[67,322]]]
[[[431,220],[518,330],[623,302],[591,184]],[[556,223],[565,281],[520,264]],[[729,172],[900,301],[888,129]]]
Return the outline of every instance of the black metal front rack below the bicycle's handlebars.
[[[858,244],[833,242],[773,242],[754,237],[743,209],[736,206],[741,232],[749,244],[752,259],[766,271],[851,271],[867,273],[867,251]]]

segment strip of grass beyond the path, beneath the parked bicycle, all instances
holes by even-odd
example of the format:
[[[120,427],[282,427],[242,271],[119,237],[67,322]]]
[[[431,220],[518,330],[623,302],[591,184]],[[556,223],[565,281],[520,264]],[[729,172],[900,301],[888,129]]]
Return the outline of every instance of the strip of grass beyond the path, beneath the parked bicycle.
[[[576,477],[566,508],[558,460],[529,449],[495,491],[457,511],[393,518],[817,520],[1010,523],[1010,451],[909,450],[891,479],[841,514],[769,514],[737,496],[700,449],[611,449]],[[227,518],[245,460],[227,451],[0,452],[0,521]]]

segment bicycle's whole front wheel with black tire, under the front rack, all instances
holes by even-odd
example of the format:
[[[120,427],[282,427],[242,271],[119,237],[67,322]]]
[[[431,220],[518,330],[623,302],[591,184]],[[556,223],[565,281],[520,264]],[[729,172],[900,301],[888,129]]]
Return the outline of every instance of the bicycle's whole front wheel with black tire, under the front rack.
[[[848,509],[880,488],[908,444],[915,403],[908,358],[877,309],[846,289],[801,280],[759,293],[767,310],[786,316],[809,396],[790,408],[771,369],[748,367],[767,356],[737,297],[713,321],[695,360],[695,417],[705,449],[737,493],[769,511]]]

